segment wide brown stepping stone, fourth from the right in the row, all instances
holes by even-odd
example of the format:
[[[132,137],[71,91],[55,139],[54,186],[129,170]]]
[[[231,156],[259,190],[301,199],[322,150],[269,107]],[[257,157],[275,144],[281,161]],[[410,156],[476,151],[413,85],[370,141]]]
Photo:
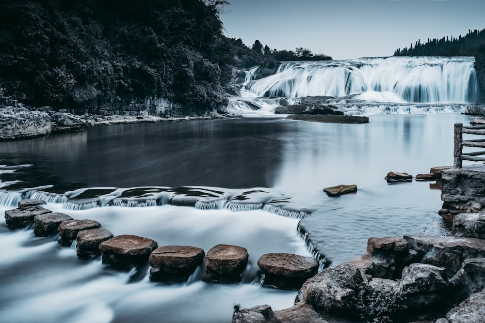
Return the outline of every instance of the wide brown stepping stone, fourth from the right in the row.
[[[157,242],[136,235],[122,234],[99,245],[104,264],[122,270],[130,270],[148,261],[150,253],[158,247]]]

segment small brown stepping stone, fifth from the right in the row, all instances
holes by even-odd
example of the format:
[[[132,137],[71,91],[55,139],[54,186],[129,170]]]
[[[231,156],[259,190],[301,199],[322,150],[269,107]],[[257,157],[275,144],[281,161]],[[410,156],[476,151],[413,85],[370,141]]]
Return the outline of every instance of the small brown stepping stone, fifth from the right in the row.
[[[99,245],[111,238],[113,233],[106,229],[89,229],[79,231],[76,240],[76,253],[81,259],[96,259],[101,256]]]

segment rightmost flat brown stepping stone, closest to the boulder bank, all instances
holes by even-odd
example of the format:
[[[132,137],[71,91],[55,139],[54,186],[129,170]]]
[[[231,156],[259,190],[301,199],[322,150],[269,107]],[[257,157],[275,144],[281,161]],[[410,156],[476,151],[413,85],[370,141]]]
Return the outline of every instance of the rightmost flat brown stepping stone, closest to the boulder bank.
[[[319,262],[290,253],[268,253],[259,258],[258,266],[265,273],[263,286],[299,290],[308,278],[317,274]]]

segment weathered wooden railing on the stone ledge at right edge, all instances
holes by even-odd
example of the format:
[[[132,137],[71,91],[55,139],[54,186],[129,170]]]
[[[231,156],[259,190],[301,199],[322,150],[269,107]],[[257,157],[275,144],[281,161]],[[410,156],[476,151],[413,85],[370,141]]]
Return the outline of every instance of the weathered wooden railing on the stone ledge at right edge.
[[[485,138],[463,140],[463,134],[485,136],[485,125],[464,127],[463,123],[455,123],[454,128],[454,168],[462,168],[464,160],[485,162],[485,151],[463,153],[463,147],[485,148]]]

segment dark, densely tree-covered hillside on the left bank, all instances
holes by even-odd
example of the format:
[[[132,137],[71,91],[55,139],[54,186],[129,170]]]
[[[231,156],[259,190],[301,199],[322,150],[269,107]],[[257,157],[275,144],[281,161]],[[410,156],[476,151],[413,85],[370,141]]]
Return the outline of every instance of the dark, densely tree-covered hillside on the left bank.
[[[2,0],[0,88],[76,108],[163,97],[224,100],[232,57],[214,0]]]

